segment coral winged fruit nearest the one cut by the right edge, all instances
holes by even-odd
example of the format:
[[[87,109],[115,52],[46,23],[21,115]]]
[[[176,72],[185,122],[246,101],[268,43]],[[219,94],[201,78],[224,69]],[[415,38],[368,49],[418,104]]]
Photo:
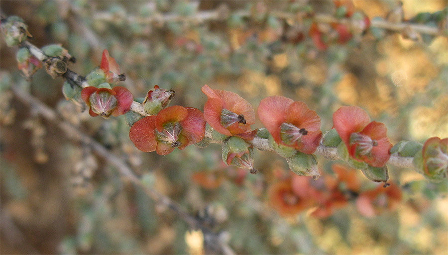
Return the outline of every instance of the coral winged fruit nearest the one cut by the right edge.
[[[362,108],[342,106],[333,114],[333,124],[348,154],[358,162],[383,167],[390,158],[392,144],[383,123],[372,121]]]

